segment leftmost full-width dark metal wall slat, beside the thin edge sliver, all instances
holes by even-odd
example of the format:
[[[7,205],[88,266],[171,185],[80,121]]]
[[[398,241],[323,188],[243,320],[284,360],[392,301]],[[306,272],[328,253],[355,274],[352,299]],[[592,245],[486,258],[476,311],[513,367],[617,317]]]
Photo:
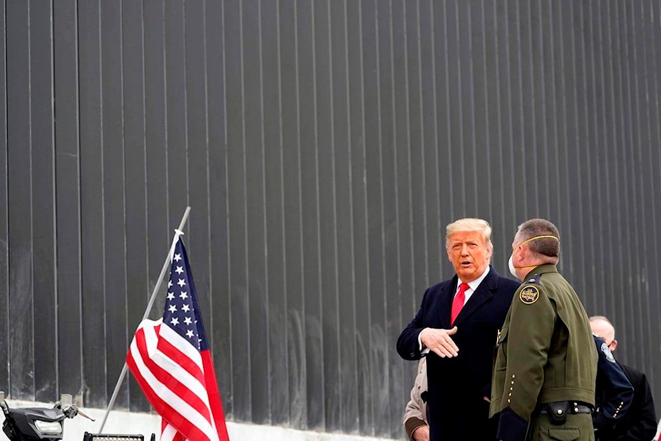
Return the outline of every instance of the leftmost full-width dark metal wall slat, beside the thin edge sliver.
[[[23,318],[10,320],[10,393],[34,398],[30,4],[10,2],[6,14],[9,318]]]

